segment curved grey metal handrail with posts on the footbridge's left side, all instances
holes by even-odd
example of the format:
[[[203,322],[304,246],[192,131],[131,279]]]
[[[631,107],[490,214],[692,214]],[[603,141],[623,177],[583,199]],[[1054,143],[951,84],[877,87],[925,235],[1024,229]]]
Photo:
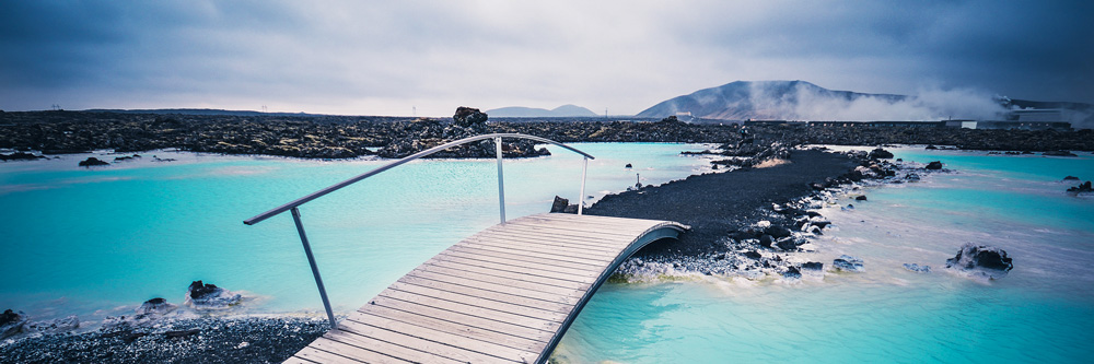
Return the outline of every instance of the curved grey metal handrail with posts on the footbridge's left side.
[[[498,204],[499,204],[500,211],[501,211],[501,223],[504,224],[505,223],[505,184],[504,184],[504,177],[503,177],[502,168],[501,168],[501,160],[502,160],[501,158],[501,138],[519,138],[519,139],[535,140],[535,141],[538,141],[538,142],[544,142],[544,143],[548,143],[548,144],[554,144],[554,145],[562,146],[562,148],[566,148],[566,149],[568,149],[570,151],[573,151],[574,153],[583,155],[584,157],[582,158],[583,163],[582,163],[582,166],[581,166],[581,192],[580,192],[580,195],[578,195],[578,214],[579,215],[582,214],[582,212],[583,212],[582,210],[583,210],[583,206],[584,206],[584,203],[582,203],[582,199],[585,196],[585,171],[589,168],[589,160],[595,160],[596,157],[590,155],[589,153],[585,153],[585,152],[582,152],[582,151],[580,151],[578,149],[574,149],[573,146],[566,145],[566,144],[559,143],[557,141],[554,141],[554,140],[550,140],[550,139],[546,139],[546,138],[539,138],[539,137],[534,137],[534,136],[528,136],[528,134],[521,134],[521,133],[493,133],[493,134],[484,134],[484,136],[478,136],[478,137],[464,138],[464,139],[461,139],[461,140],[456,140],[456,141],[453,141],[453,142],[449,142],[449,143],[444,143],[444,144],[441,144],[441,145],[438,145],[438,146],[433,146],[433,148],[427,149],[427,150],[418,152],[418,153],[410,154],[410,155],[408,155],[408,156],[406,156],[406,157],[404,157],[401,160],[398,160],[398,161],[395,161],[395,162],[382,165],[379,168],[375,168],[375,169],[369,171],[366,173],[360,174],[360,175],[358,175],[358,176],[356,176],[353,178],[350,178],[350,179],[347,179],[347,180],[344,180],[344,181],[330,185],[327,188],[324,188],[324,189],[321,189],[318,191],[309,193],[307,196],[304,196],[304,197],[301,197],[299,199],[292,200],[291,202],[282,204],[280,207],[277,207],[277,208],[275,208],[272,210],[259,213],[259,214],[255,215],[254,218],[244,220],[243,223],[247,224],[247,225],[254,225],[254,224],[257,224],[257,223],[259,223],[259,222],[261,222],[261,221],[264,221],[266,219],[269,219],[269,218],[276,216],[278,214],[281,214],[281,213],[283,213],[286,211],[290,211],[291,212],[293,223],[296,225],[296,234],[300,235],[300,243],[304,246],[304,255],[307,257],[307,263],[312,268],[312,275],[315,278],[315,286],[319,290],[319,297],[323,298],[323,308],[326,309],[326,312],[327,312],[327,319],[330,320],[330,328],[334,329],[334,328],[336,328],[338,326],[338,322],[335,320],[334,310],[330,309],[330,301],[327,298],[327,290],[323,286],[323,279],[319,277],[319,268],[315,263],[315,256],[312,255],[312,246],[311,246],[311,244],[307,243],[307,234],[304,234],[304,223],[300,221],[300,210],[298,208],[300,206],[304,204],[304,203],[307,203],[307,202],[314,200],[314,199],[323,197],[324,195],[334,192],[336,190],[341,189],[342,187],[346,187],[346,186],[356,184],[358,181],[361,181],[362,179],[375,176],[377,174],[383,173],[384,171],[397,167],[397,166],[399,166],[399,165],[401,165],[404,163],[407,163],[407,162],[410,162],[410,161],[414,161],[414,160],[417,160],[417,158],[420,158],[420,157],[423,157],[423,156],[427,156],[427,155],[430,155],[430,154],[433,154],[433,153],[437,153],[437,152],[440,152],[440,151],[443,151],[443,150],[446,150],[449,148],[453,148],[453,146],[456,146],[456,145],[463,145],[463,144],[467,144],[467,143],[476,142],[476,141],[480,141],[480,140],[493,139],[493,143],[494,143],[494,146],[496,146],[494,150],[496,150],[496,152],[498,154]]]

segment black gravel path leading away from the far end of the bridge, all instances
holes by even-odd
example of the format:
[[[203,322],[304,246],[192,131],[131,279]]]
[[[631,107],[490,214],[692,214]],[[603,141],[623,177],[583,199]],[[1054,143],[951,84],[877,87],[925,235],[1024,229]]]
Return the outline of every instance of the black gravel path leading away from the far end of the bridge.
[[[639,256],[695,256],[726,250],[718,239],[768,220],[771,203],[808,196],[811,183],[850,172],[858,162],[821,151],[792,151],[790,162],[767,168],[691,176],[659,187],[604,197],[585,210],[593,215],[672,220],[691,225],[678,242],[653,244]]]

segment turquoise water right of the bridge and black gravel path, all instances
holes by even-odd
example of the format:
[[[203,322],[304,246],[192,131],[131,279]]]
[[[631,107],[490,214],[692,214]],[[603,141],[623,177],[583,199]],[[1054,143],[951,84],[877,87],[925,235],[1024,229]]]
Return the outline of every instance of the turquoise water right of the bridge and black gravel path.
[[[955,174],[862,187],[822,213],[822,261],[849,254],[864,273],[801,281],[685,277],[608,284],[567,333],[565,362],[1089,362],[1094,355],[1094,199],[1063,192],[1094,178],[1094,157],[997,156],[903,148]],[[869,201],[848,196],[866,195]],[[1003,248],[1009,277],[944,269],[965,242]],[[929,265],[916,273],[903,263]]]

